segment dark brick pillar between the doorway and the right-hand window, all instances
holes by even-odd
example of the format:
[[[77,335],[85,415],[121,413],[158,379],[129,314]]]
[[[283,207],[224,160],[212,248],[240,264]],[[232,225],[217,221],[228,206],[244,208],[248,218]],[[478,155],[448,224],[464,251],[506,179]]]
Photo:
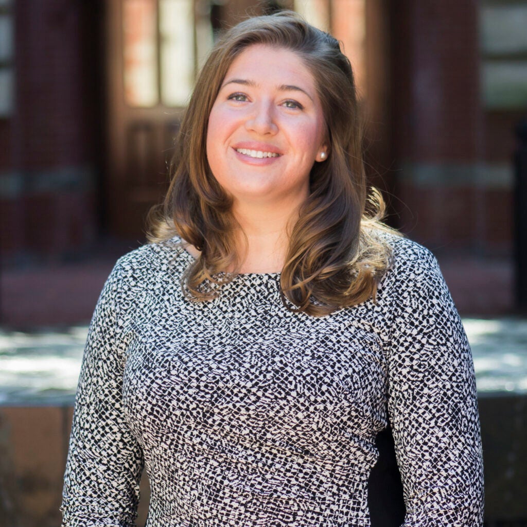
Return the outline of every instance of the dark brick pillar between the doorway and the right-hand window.
[[[477,3],[391,5],[393,144],[401,227],[435,248],[477,238]]]

